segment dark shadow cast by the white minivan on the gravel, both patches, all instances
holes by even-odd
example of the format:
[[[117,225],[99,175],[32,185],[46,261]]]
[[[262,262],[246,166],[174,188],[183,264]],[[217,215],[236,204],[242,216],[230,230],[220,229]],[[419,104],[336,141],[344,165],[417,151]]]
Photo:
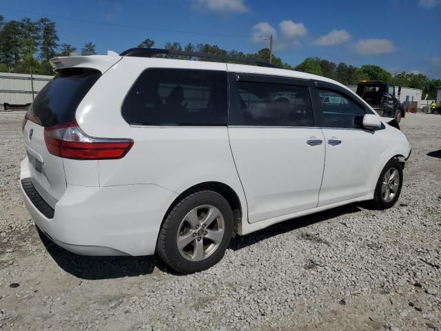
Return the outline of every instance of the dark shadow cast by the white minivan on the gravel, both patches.
[[[342,214],[351,214],[360,211],[355,205],[345,205],[342,207],[318,212],[305,217],[289,219],[282,223],[277,223],[263,230],[240,236],[232,239],[229,249],[240,250],[249,245],[254,245],[259,241],[278,234],[290,232],[299,228],[305,228],[308,225],[327,221]],[[146,274],[152,274],[157,268],[161,272],[169,274],[181,275],[170,268],[167,268],[156,256],[144,257],[88,257],[84,255],[74,254],[61,248],[59,245],[51,241],[46,235],[37,228],[37,232],[46,250],[65,272],[72,274],[79,279],[96,280],[96,279],[116,279],[123,277],[136,277]]]

